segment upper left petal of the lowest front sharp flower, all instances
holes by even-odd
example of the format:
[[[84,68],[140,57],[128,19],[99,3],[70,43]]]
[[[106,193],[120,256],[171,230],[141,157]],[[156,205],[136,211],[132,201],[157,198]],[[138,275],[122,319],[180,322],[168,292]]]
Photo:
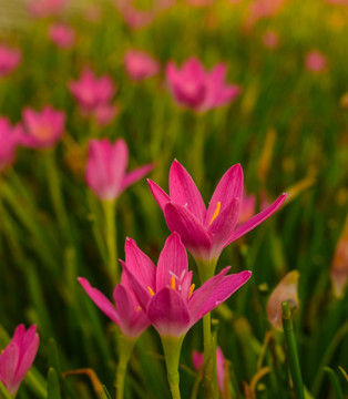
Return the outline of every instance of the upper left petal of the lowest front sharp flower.
[[[147,255],[136,245],[134,239],[125,239],[125,264],[127,269],[136,276],[142,285],[147,289],[155,289],[156,267]]]

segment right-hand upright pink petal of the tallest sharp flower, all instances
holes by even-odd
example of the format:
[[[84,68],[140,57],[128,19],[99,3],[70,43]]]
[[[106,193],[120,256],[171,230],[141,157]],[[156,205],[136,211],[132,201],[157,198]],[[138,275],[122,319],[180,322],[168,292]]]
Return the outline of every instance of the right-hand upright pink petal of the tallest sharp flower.
[[[218,182],[206,213],[205,226],[207,227],[221,203],[221,213],[229,207],[234,198],[242,198],[243,195],[243,168],[240,164],[233,165],[225,172]]]

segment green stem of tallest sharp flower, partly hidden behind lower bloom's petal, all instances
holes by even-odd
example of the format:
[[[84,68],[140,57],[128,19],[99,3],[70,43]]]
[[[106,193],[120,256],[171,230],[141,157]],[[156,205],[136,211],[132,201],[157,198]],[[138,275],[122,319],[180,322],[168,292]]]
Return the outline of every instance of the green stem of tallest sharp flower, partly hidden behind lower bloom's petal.
[[[196,259],[201,285],[207,282],[215,275],[216,259],[211,262]],[[213,399],[216,398],[215,386],[216,377],[214,378],[214,352],[213,352],[213,340],[212,340],[212,316],[211,313],[203,317],[203,345],[204,345],[204,398]],[[216,352],[215,352],[216,356]]]

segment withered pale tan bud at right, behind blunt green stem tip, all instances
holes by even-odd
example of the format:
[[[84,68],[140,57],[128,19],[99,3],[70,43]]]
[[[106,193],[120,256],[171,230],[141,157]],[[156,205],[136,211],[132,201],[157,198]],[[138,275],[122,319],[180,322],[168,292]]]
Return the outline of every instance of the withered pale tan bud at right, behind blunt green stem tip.
[[[299,273],[288,273],[272,291],[267,303],[267,318],[274,328],[283,330],[282,303],[287,301],[293,310],[298,308],[298,279]]]

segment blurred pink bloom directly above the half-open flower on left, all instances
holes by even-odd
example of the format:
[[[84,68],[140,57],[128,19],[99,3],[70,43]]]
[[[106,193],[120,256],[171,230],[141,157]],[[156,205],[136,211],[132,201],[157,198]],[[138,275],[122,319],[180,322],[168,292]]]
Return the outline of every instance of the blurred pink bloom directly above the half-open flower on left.
[[[117,114],[117,106],[111,104],[116,86],[109,75],[96,78],[92,70],[84,68],[80,80],[70,81],[69,90],[76,99],[82,116],[94,117],[99,125],[110,123]]]

